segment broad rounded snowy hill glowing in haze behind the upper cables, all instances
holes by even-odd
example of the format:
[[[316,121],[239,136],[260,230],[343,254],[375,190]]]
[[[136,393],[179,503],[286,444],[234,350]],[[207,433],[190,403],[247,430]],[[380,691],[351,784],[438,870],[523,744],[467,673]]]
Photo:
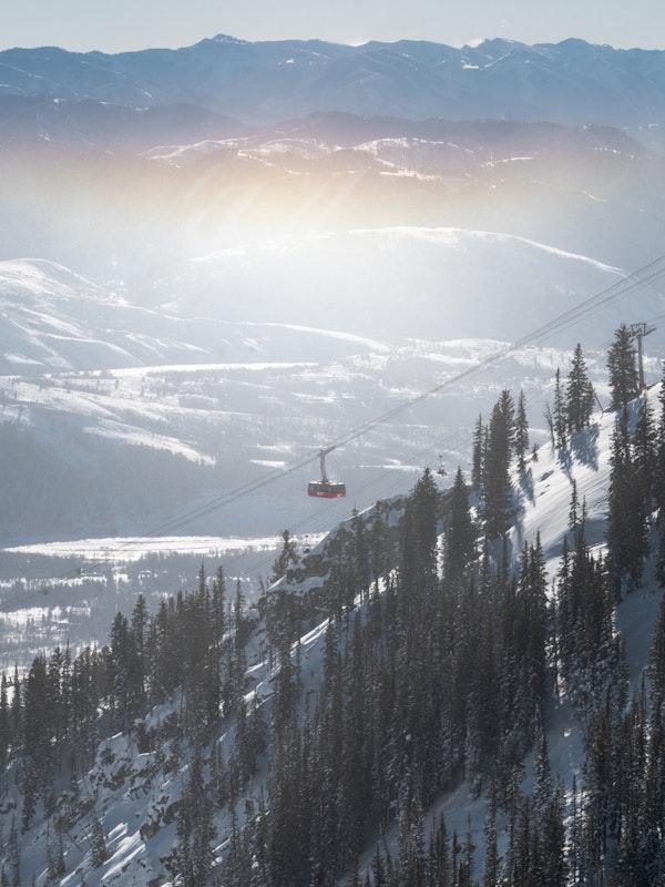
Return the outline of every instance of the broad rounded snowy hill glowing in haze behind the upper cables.
[[[429,338],[514,341],[626,274],[511,235],[402,227],[216,253],[176,286],[182,304],[198,298],[209,309],[233,295],[226,310],[245,319],[278,309],[286,323],[366,336],[424,337],[428,330]],[[662,313],[663,305],[657,289],[646,288],[542,344],[565,347],[576,336],[595,348],[621,319]]]

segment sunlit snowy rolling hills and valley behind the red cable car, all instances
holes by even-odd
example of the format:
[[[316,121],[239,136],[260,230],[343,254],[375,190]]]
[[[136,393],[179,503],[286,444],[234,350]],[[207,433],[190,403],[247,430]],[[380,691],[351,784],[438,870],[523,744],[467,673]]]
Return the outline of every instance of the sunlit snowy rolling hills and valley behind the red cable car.
[[[147,293],[101,286],[45,262],[4,262],[1,416],[66,453],[68,463],[95,459],[78,455],[74,428],[86,449],[103,439],[214,467],[215,477],[201,476],[214,499],[270,466],[355,438],[368,420],[400,407],[334,457],[352,504],[364,508],[397,491],[395,483],[403,491],[413,470],[436,465],[439,455],[449,469],[464,465],[471,426],[502,387],[516,394],[524,386],[532,425],[542,429],[556,367],[565,375],[577,341],[603,402],[613,332],[622,322],[663,316],[658,286],[658,275],[636,286],[625,272],[584,256],[459,228],[247,245],[200,258]],[[523,347],[512,350],[519,339]],[[658,328],[646,340],[649,381],[659,376],[664,339]],[[409,408],[427,391],[437,396]],[[303,520],[307,476],[285,473],[284,483],[239,510],[187,529],[246,534],[258,520],[260,536],[290,527]],[[109,498],[104,485],[93,482]],[[202,496],[201,486],[185,491],[181,511]],[[69,516],[90,534],[84,501],[73,502]],[[119,512],[93,526],[104,536],[136,533],[176,517],[155,509],[143,526],[127,526]],[[28,541],[21,528],[23,538],[13,532],[12,541]],[[306,529],[324,528],[315,521]]]

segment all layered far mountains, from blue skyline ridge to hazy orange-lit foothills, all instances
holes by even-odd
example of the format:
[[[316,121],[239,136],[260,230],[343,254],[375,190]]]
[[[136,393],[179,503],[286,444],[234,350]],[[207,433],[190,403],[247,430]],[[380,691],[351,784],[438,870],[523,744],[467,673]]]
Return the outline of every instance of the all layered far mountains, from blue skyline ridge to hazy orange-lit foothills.
[[[135,297],[219,249],[413,225],[638,268],[661,249],[664,94],[665,52],[580,40],[8,50],[0,261]]]

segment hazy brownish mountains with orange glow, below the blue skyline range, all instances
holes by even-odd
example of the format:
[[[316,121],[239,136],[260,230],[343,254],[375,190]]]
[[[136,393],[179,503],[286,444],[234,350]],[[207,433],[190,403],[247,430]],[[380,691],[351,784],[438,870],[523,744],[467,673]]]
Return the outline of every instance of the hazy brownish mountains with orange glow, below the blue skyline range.
[[[164,141],[8,124],[0,259],[123,281],[133,302],[201,256],[358,228],[495,232],[631,269],[659,255],[663,160],[616,130],[319,114],[213,136],[178,120]]]

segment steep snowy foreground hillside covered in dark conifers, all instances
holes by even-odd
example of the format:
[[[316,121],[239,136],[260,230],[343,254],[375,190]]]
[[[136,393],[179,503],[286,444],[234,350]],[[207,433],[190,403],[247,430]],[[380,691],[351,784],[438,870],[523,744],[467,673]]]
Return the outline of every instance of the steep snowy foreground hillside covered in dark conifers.
[[[256,606],[202,569],[105,646],[3,675],[0,883],[661,883],[665,385],[641,392],[634,358],[622,327],[612,414],[577,346],[549,443],[504,390],[470,478],[426,469],[308,551],[285,531]],[[657,613],[642,663],[620,628],[637,599]],[[581,751],[555,769],[562,718]]]

